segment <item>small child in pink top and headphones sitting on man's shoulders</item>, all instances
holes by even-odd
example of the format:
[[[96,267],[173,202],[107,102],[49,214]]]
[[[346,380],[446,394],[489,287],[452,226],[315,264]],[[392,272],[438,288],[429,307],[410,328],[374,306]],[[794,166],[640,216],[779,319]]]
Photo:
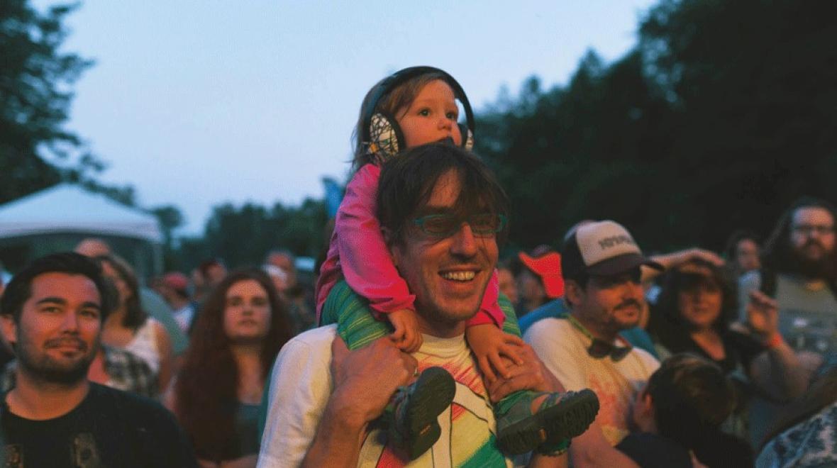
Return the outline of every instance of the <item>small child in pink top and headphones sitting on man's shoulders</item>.
[[[457,123],[457,99],[465,109],[467,126]],[[321,325],[336,321],[337,332],[350,349],[387,334],[404,352],[416,352],[422,345],[414,296],[398,275],[375,218],[381,166],[407,148],[435,141],[470,149],[473,128],[465,92],[440,69],[400,70],[373,86],[363,100],[356,130],[356,172],[338,210],[316,287],[318,321]],[[490,230],[500,232],[503,224],[501,220]],[[465,332],[489,381],[496,378],[495,372],[506,375],[503,357],[520,361],[515,347],[522,344],[511,304],[498,296],[495,271],[480,311],[468,321]],[[427,368],[393,399],[389,433],[411,460],[438,440],[436,418],[454,393],[454,380],[447,371]],[[587,429],[598,412],[598,399],[588,389],[516,392],[497,404],[495,412],[501,449],[510,454],[536,449],[556,453]]]

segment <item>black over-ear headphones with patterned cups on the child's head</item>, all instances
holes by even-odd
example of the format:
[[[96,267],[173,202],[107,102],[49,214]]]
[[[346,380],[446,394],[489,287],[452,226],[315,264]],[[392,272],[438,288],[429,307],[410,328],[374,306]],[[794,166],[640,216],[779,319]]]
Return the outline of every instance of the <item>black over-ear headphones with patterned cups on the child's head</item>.
[[[465,95],[465,90],[462,86],[454,80],[442,69],[434,67],[409,67],[398,70],[385,78],[380,85],[377,85],[372,97],[365,109],[363,109],[362,141],[367,145],[367,152],[375,155],[377,162],[384,162],[390,157],[398,154],[403,149],[404,135],[401,127],[398,126],[398,120],[395,116],[389,115],[388,112],[375,111],[378,102],[384,96],[388,95],[399,85],[403,85],[408,80],[412,80],[420,75],[435,73],[441,75],[440,80],[444,80],[452,90],[454,90],[454,97],[462,103],[465,109],[465,124],[457,124],[460,127],[460,134],[462,135],[462,147],[469,150],[474,147],[474,112],[471,111],[468,96]]]

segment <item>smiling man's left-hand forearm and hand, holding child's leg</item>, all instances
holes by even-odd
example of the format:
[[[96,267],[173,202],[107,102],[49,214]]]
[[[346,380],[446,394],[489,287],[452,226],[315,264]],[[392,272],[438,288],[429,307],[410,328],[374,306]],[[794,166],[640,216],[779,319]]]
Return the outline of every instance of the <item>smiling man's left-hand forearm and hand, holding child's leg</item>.
[[[305,467],[356,466],[367,424],[383,413],[396,388],[406,385],[419,365],[387,337],[354,352],[336,337],[331,352],[335,389],[302,460]]]

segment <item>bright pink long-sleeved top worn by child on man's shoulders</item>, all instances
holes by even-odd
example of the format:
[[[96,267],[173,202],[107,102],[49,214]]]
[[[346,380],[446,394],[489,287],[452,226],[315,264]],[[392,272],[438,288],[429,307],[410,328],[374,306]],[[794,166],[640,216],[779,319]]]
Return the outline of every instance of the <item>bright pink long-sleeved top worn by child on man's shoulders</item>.
[[[346,187],[346,196],[337,210],[328,255],[316,282],[318,322],[328,293],[341,279],[346,280],[352,291],[367,298],[376,313],[415,310],[415,296],[398,275],[375,216],[379,177],[381,168],[367,164],[355,173]],[[497,303],[499,285],[495,270],[485,289],[480,311],[468,321],[469,327],[483,323],[502,327],[506,316]]]

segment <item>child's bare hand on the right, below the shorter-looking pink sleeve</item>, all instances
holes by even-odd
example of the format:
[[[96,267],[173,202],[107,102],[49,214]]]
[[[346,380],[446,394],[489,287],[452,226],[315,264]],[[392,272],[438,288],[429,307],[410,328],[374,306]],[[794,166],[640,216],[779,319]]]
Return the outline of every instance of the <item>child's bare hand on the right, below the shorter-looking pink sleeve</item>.
[[[523,359],[518,347],[523,346],[523,340],[514,335],[503,332],[494,324],[485,323],[465,329],[468,345],[474,352],[477,363],[488,382],[494,382],[499,373],[508,378],[508,369],[503,357],[516,364],[522,364]]]

